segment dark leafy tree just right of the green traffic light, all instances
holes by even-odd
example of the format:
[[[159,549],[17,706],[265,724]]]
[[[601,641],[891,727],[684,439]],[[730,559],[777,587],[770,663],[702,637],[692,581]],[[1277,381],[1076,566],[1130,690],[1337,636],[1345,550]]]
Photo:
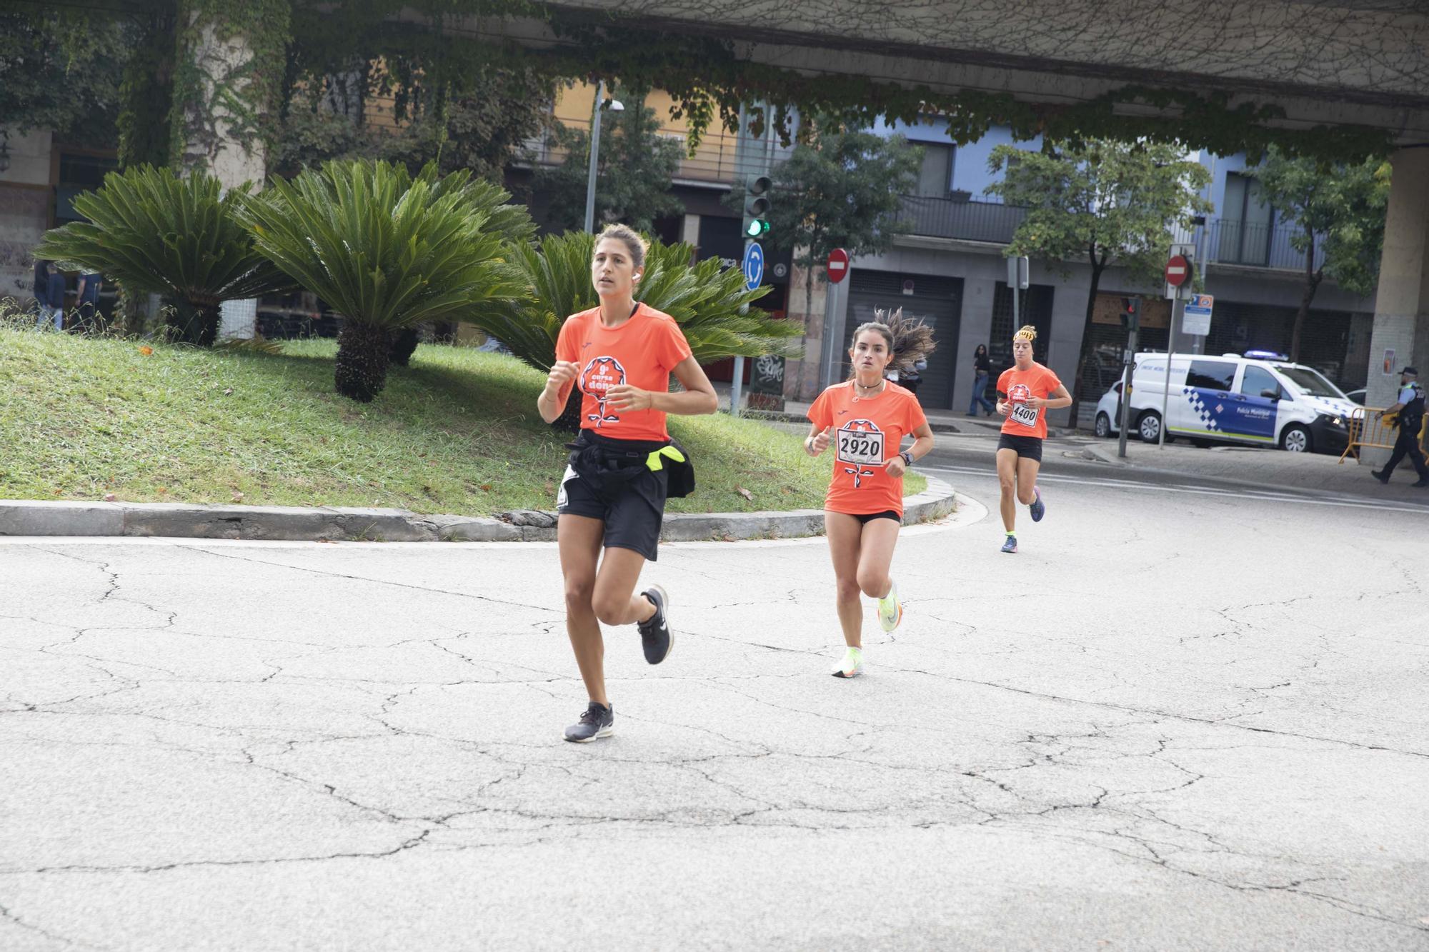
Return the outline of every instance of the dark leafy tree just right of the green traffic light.
[[[813,309],[813,283],[829,252],[877,254],[907,232],[902,199],[917,184],[922,162],[923,152],[903,136],[885,139],[812,120],[806,142],[773,167],[767,242],[793,252],[795,264],[805,269],[805,314]],[[743,207],[743,184],[730,202]]]

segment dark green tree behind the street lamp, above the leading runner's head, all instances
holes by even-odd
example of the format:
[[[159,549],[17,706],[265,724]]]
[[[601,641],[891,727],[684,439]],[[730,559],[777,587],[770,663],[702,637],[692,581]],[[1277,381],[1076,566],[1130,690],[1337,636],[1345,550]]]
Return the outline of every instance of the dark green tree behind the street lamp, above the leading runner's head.
[[[654,220],[679,214],[684,204],[670,194],[680,167],[683,143],[659,134],[654,110],[639,90],[612,90],[624,109],[606,110],[600,119],[600,154],[596,157],[596,223],[624,222],[637,232],[654,230]],[[553,229],[580,229],[586,220],[586,184],[590,173],[590,132],[557,126],[556,146],[566,160],[536,173],[533,189],[549,196]]]

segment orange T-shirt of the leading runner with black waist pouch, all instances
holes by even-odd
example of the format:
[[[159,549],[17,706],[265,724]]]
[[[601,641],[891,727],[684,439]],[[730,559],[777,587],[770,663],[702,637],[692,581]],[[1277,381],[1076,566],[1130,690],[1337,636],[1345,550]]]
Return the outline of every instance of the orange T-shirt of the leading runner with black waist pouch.
[[[579,386],[580,429],[616,440],[669,440],[663,410],[616,410],[606,405],[606,390],[627,383],[669,393],[670,372],[689,356],[680,324],[653,307],[640,304],[619,327],[602,324],[599,307],[572,314],[556,337],[556,359],[570,360],[580,372],[562,387],[560,406],[570,387]]]

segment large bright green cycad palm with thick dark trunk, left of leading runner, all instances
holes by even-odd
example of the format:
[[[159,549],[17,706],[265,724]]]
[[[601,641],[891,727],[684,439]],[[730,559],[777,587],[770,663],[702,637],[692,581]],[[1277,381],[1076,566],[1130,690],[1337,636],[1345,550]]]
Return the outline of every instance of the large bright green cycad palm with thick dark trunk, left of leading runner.
[[[470,173],[413,179],[402,166],[330,162],[277,182],[239,212],[257,249],[343,314],[337,392],[369,402],[387,382],[392,333],[467,316],[519,293],[503,230],[529,236]]]

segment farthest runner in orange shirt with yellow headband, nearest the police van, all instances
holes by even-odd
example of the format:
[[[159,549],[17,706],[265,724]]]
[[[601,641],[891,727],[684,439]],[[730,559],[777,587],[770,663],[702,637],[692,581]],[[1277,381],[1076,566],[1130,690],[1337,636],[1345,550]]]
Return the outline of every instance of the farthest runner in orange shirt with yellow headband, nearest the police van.
[[[1047,437],[1047,410],[1072,405],[1072,395],[1050,369],[1032,359],[1032,342],[1037,329],[1023,324],[1012,336],[1013,366],[997,377],[997,413],[1007,419],[997,437],[997,486],[1002,492],[1002,526],[1007,537],[1002,550],[1017,552],[1017,503],[1032,513],[1032,522],[1042,522],[1046,503],[1037,489],[1042,469],[1042,440]]]

